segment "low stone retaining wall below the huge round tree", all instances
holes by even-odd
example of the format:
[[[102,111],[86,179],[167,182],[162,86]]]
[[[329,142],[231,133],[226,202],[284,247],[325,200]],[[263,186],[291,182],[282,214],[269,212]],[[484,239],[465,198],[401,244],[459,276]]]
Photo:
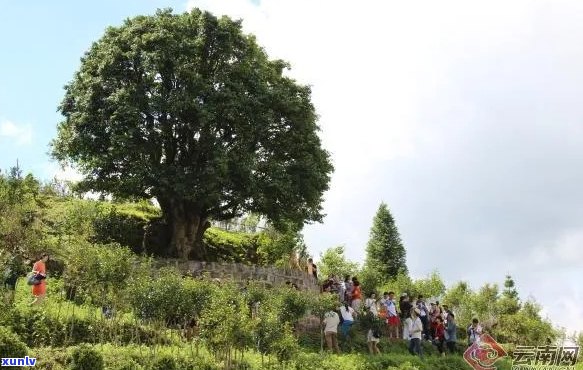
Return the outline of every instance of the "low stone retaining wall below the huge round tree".
[[[204,276],[210,278],[232,280],[245,283],[247,280],[259,281],[265,286],[283,286],[287,281],[295,283],[300,290],[318,292],[320,287],[313,276],[304,271],[280,269],[273,266],[244,265],[242,263],[227,262],[200,262],[183,261],[174,259],[158,259],[157,267],[172,266],[182,271],[185,275]]]

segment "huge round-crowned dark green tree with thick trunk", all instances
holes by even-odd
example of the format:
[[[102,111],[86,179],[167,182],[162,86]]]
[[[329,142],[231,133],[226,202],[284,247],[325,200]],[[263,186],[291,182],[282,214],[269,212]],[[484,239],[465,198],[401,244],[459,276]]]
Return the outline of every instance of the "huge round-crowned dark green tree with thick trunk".
[[[241,22],[198,9],[128,19],[81,59],[53,155],[80,189],[156,198],[179,256],[204,258],[209,220],[321,221],[333,170],[309,87]]]

